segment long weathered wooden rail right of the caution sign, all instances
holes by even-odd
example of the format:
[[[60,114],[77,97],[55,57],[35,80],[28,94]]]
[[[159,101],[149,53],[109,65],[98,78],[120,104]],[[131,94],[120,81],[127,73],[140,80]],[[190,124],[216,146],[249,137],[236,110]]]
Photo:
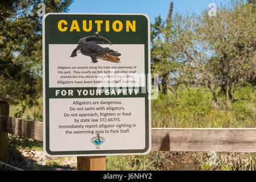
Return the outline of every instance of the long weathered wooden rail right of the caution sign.
[[[152,129],[152,150],[256,152],[256,129]]]

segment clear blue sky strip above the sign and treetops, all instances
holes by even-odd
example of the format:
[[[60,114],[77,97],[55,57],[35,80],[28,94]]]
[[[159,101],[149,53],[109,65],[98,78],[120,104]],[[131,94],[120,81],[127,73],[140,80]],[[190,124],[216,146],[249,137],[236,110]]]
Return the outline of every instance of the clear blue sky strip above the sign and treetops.
[[[201,13],[208,9],[209,3],[217,6],[226,4],[230,0],[172,0],[173,13],[186,14]],[[69,13],[145,13],[155,22],[155,17],[161,15],[166,19],[169,11],[170,0],[74,0]]]

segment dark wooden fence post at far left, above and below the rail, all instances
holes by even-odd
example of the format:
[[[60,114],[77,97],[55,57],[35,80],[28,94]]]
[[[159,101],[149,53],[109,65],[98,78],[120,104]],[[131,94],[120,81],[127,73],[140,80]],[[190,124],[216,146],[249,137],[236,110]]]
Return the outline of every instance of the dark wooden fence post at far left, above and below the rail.
[[[0,115],[9,116],[10,105],[0,101]],[[0,161],[7,163],[8,133],[0,131]]]

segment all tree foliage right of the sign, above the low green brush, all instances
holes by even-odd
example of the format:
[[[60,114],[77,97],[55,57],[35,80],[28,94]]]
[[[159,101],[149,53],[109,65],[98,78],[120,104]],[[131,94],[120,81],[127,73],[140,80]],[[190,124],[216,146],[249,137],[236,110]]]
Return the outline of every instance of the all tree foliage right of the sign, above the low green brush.
[[[256,84],[255,6],[236,0],[218,8],[216,17],[208,11],[175,14],[168,26],[156,19],[152,72],[159,73],[162,84],[169,82],[169,88],[197,84],[208,87],[216,101],[222,95],[234,101],[239,86]]]

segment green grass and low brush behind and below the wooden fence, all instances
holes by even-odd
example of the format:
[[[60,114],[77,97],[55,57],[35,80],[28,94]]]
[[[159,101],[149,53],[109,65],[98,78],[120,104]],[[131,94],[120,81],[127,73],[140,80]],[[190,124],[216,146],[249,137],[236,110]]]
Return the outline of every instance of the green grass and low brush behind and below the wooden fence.
[[[11,106],[10,116],[42,121],[42,101],[30,108]],[[202,127],[256,127],[256,89],[248,85],[234,93],[234,102],[230,105],[226,98],[213,101],[212,94],[206,88],[196,89],[181,85],[177,96],[159,93],[157,100],[152,100],[152,127],[202,128]],[[21,143],[15,143],[21,140]],[[30,147],[42,151],[42,142],[30,144],[31,140],[11,138],[16,147]],[[12,144],[12,143],[10,143]],[[175,153],[175,152],[174,152]],[[177,152],[151,151],[148,155],[107,156],[107,170],[169,170],[171,166],[185,165],[188,159]],[[210,164],[208,152],[189,154],[192,169],[200,170],[255,170],[256,154],[217,152],[217,163]],[[175,156],[175,157],[174,157]],[[183,160],[175,162],[176,158]],[[169,160],[170,159],[170,160]],[[63,159],[47,162],[56,166]],[[175,162],[171,165],[172,162]],[[176,169],[176,168],[173,168]],[[184,169],[184,168],[178,168]]]

